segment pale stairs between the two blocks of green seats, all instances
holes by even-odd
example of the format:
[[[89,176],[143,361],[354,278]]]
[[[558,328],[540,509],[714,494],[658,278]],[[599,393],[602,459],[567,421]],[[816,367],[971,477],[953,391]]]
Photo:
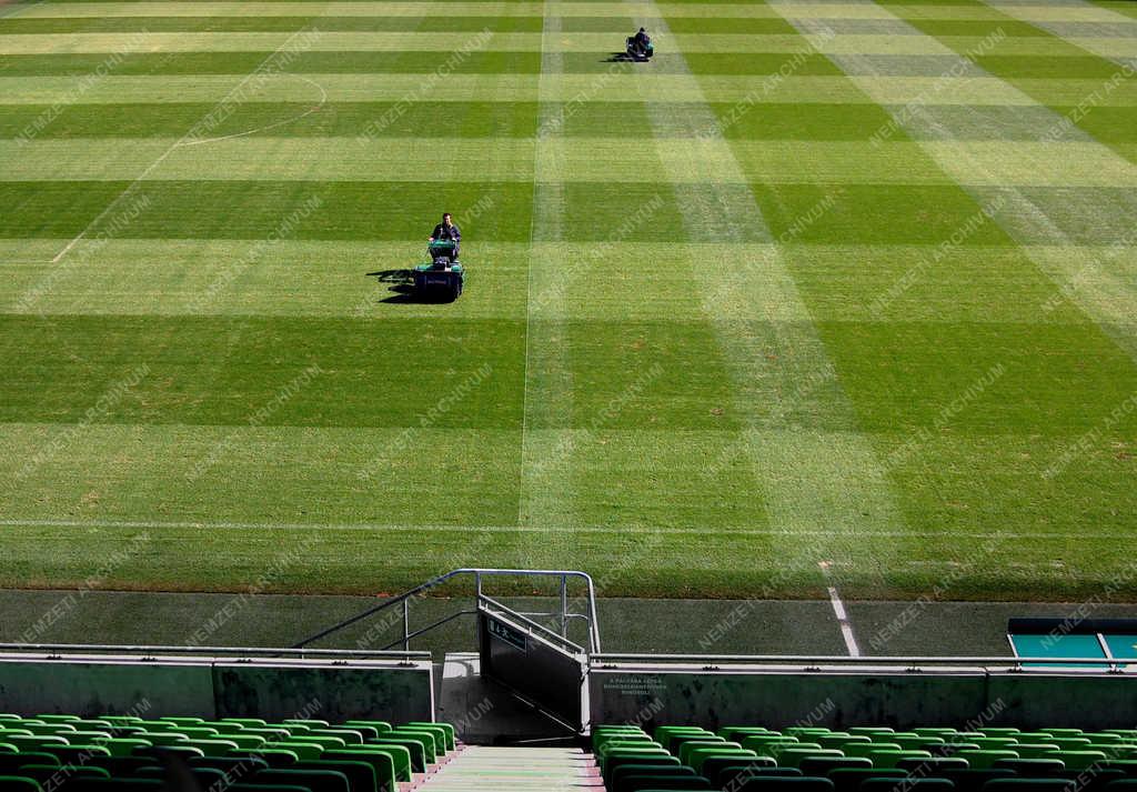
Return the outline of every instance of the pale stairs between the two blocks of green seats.
[[[415,792],[604,792],[591,753],[579,748],[470,745]]]

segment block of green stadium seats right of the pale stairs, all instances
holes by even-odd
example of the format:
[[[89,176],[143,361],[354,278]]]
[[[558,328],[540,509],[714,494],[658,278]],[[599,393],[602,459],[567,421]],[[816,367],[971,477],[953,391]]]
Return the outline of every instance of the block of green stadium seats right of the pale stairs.
[[[592,744],[609,792],[1137,792],[1131,729],[600,726]]]

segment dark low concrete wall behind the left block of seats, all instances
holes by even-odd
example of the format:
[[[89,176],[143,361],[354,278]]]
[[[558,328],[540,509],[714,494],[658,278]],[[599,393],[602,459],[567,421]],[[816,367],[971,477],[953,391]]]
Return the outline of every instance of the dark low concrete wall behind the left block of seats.
[[[0,711],[430,720],[431,666],[0,658]]]

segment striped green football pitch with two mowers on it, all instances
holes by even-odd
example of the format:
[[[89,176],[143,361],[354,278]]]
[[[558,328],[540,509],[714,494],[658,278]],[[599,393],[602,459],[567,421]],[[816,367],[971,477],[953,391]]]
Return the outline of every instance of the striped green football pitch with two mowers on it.
[[[0,3],[0,586],[1132,601],[1135,245],[1134,2]]]

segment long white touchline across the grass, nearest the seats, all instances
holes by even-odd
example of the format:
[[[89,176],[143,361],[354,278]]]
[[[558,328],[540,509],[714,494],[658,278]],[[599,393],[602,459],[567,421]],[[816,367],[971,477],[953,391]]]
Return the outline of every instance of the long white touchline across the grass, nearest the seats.
[[[23,527],[23,528],[202,528],[219,530],[395,530],[395,531],[485,531],[492,530],[503,534],[556,534],[565,530],[582,534],[674,534],[677,536],[833,536],[831,530],[786,530],[779,528],[739,528],[739,529],[715,529],[711,526],[703,528],[655,528],[650,526],[467,526],[467,525],[395,525],[385,522],[229,522],[229,521],[199,521],[199,520],[44,520],[28,519],[20,520],[14,518],[0,519],[0,527]],[[896,530],[863,530],[858,537],[880,538],[943,538],[944,534],[936,531],[896,531]],[[1112,533],[1085,533],[1085,534],[1041,534],[1041,533],[1018,533],[996,531],[991,534],[982,531],[952,531],[953,537],[961,538],[1007,538],[1007,539],[1130,539],[1131,534]]]

